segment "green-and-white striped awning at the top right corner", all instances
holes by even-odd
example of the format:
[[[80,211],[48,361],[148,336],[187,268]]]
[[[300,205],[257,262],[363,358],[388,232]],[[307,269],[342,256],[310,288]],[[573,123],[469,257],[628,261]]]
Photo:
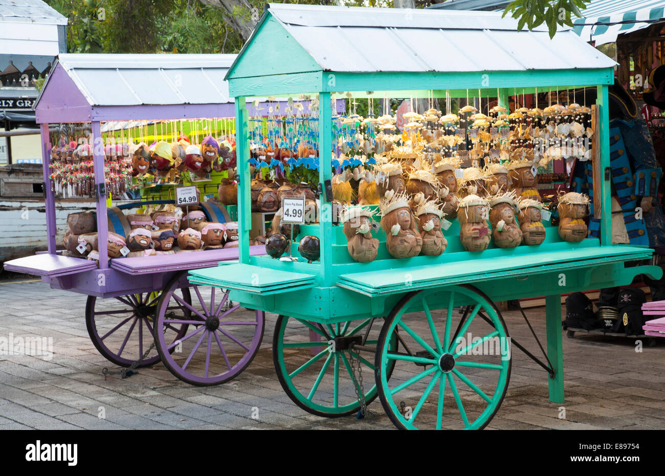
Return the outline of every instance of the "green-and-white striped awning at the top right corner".
[[[585,17],[573,21],[573,31],[599,46],[616,41],[618,35],[665,21],[665,0],[591,0],[582,13]]]

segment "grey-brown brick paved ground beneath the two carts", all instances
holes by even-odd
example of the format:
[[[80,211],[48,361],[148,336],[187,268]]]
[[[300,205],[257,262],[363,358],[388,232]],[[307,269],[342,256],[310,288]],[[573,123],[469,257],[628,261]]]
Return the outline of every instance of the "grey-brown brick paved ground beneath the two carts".
[[[163,364],[126,380],[104,381],[110,366],[88,337],[86,298],[43,283],[0,281],[0,336],[53,337],[51,360],[0,356],[1,429],[392,429],[380,417],[326,419],[295,406],[273,368],[276,316],[269,314],[261,350],[233,382],[197,388],[176,379]],[[544,309],[528,312],[545,340]],[[517,312],[504,313],[515,338],[536,349]],[[665,339],[663,339],[665,341]],[[515,350],[510,386],[494,429],[665,429],[665,342],[635,352],[634,341],[602,336],[563,337],[566,419],[547,398],[546,374]],[[105,419],[98,417],[104,407]],[[253,419],[253,408],[259,418]]]

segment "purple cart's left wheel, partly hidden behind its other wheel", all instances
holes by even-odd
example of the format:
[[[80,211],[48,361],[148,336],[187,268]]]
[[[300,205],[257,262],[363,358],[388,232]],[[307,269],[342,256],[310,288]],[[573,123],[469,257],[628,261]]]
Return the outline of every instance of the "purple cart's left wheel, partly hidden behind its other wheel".
[[[183,298],[191,302],[188,289]],[[85,308],[86,328],[92,344],[108,360],[129,367],[150,348],[154,334],[154,313],[159,293],[136,293],[115,298],[97,299],[88,296]],[[187,324],[169,325],[164,338],[174,342],[187,332]],[[156,349],[137,367],[147,367],[160,361]]]

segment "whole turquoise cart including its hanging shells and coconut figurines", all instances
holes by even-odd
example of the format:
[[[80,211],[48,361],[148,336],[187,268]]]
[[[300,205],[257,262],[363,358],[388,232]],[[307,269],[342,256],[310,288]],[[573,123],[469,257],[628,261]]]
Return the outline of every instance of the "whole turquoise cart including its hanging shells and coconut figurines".
[[[569,29],[554,39],[541,29],[519,32],[516,21],[501,19],[501,13],[269,4],[226,75],[239,124],[240,260],[190,271],[190,283],[230,289],[229,298],[239,305],[280,314],[273,334],[275,368],[301,408],[323,416],[364,412],[378,393],[400,428],[448,427],[442,423],[444,384],[452,391],[447,401],[454,398],[459,409],[450,427],[486,424],[505,394],[510,358],[465,362],[466,351],[479,344],[453,354],[458,336],[469,326],[487,324],[473,331],[483,336],[474,342],[507,338],[499,313],[484,314],[495,308],[491,302],[545,296],[547,363],[525,352],[549,373],[550,400],[563,402],[561,294],[662,273],[625,266],[649,257],[650,249],[611,244],[606,171],[610,152],[622,154],[608,131],[614,64]],[[561,90],[589,88],[597,93],[591,107],[579,104],[577,94],[566,105],[555,104]],[[554,92],[556,99],[524,106],[526,96],[541,92]],[[267,255],[250,256],[250,166],[260,147],[247,130],[245,104],[247,98],[278,94],[317,100],[319,154],[307,159],[318,170],[319,223],[305,220],[299,232],[282,227],[298,215],[297,206],[284,199],[279,233],[269,237]],[[365,117],[357,107],[334,113],[331,103],[339,97],[363,106],[367,101]],[[385,107],[390,98],[429,101],[427,110],[392,116]],[[384,101],[382,112],[372,99]],[[458,109],[455,100],[466,105]],[[496,106],[485,114],[491,100]],[[537,150],[537,132],[547,138],[544,152]],[[548,153],[555,155],[556,139],[571,138],[571,132],[593,145],[581,149],[578,143],[576,152],[556,155],[590,162],[598,179],[589,190],[593,206],[582,193],[558,197],[551,209],[559,212],[557,227],[545,215],[533,170]],[[297,161],[287,165],[299,167]],[[439,182],[440,172],[447,184]],[[358,182],[360,206],[348,193],[337,193],[349,176]],[[507,176],[514,177],[510,189],[504,186]],[[306,206],[303,196],[299,203]],[[335,201],[346,203],[341,216]],[[374,221],[379,215],[380,227]],[[465,310],[452,324],[458,306]],[[370,336],[375,320],[378,339]],[[363,390],[356,366],[374,375],[375,387]],[[485,374],[479,378],[473,368],[491,370],[495,380],[478,385],[474,380]],[[481,402],[472,417],[472,398],[458,393],[452,374]],[[438,398],[432,390],[437,383]],[[398,393],[407,387],[413,397]],[[428,398],[438,405],[426,408]],[[410,416],[406,408],[413,409]]]

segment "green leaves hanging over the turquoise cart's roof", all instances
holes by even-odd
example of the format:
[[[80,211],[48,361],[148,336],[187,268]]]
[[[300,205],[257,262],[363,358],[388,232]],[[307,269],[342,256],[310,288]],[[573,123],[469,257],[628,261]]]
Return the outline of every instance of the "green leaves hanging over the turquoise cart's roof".
[[[573,26],[571,15],[582,17],[581,10],[587,8],[591,0],[514,0],[505,7],[503,17],[508,13],[517,19],[517,30],[526,26],[529,31],[543,23],[547,25],[549,37],[557,33],[557,26]]]

